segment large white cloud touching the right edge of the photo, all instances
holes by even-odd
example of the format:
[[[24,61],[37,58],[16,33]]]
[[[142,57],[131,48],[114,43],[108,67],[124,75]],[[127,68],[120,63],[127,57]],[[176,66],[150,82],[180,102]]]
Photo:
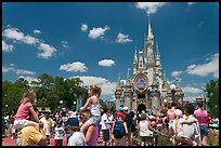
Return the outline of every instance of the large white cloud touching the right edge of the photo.
[[[216,53],[207,64],[188,66],[186,72],[199,77],[207,77],[211,73],[214,78],[219,78],[219,53]]]

